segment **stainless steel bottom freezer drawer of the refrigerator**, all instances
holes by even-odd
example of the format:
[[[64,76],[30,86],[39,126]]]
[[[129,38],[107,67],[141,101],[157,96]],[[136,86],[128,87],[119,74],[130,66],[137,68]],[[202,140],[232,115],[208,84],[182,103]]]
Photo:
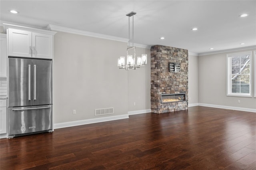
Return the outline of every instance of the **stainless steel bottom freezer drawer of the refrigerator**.
[[[9,136],[52,129],[52,105],[9,107]]]

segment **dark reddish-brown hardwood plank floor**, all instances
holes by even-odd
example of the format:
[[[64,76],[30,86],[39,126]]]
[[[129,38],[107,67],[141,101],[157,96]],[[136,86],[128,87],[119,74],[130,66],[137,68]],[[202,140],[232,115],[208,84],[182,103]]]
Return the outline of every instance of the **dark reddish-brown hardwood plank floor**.
[[[256,113],[189,107],[0,140],[1,170],[256,170]]]

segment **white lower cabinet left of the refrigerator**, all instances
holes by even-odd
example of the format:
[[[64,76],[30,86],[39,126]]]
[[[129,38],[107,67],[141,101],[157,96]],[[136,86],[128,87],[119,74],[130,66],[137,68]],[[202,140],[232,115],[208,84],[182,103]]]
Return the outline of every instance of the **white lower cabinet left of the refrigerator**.
[[[0,100],[0,134],[6,133],[7,129],[7,107],[6,107],[6,99]]]

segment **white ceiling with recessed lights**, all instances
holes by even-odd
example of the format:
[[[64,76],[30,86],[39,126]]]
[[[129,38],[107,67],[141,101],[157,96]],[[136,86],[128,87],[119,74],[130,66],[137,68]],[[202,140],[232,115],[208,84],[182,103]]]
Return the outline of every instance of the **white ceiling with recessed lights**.
[[[134,11],[134,43],[202,54],[256,45],[255,9],[254,0],[0,0],[0,20],[128,38],[126,14]]]

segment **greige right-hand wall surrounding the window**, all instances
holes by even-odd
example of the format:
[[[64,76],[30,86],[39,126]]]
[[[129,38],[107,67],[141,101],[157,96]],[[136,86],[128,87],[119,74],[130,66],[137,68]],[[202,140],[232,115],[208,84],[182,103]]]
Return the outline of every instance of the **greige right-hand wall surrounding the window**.
[[[228,53],[254,50],[256,49],[232,51]],[[256,109],[255,97],[233,97],[226,95],[226,55],[228,53],[217,53],[198,57],[198,103]],[[252,79],[254,79],[254,77],[252,77]],[[238,103],[238,100],[240,100],[240,103]]]

